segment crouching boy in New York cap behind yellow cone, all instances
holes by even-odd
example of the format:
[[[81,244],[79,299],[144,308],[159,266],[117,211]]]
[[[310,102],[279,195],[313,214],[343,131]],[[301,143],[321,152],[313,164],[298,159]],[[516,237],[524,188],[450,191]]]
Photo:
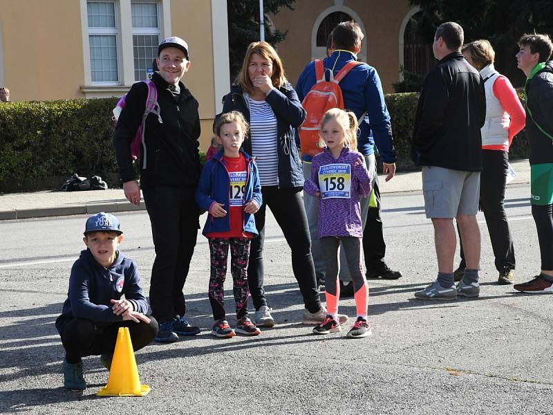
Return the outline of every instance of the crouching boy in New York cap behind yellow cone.
[[[65,349],[64,386],[85,389],[84,356],[100,356],[109,369],[120,327],[129,327],[134,351],[149,344],[158,322],[148,311],[135,262],[118,245],[123,240],[118,219],[100,212],[86,221],[81,255],[69,277],[68,298],[56,329]],[[124,296],[124,297],[123,297]]]

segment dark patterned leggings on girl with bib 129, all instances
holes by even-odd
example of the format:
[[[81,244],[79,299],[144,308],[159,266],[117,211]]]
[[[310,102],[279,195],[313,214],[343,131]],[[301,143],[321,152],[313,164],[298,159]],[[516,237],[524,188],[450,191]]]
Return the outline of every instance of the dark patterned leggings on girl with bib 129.
[[[230,273],[234,281],[233,293],[236,302],[236,319],[247,315],[247,261],[250,257],[248,238],[209,238],[211,252],[211,275],[209,277],[209,302],[214,320],[225,319],[225,291],[223,284],[227,276],[227,258],[230,246]]]

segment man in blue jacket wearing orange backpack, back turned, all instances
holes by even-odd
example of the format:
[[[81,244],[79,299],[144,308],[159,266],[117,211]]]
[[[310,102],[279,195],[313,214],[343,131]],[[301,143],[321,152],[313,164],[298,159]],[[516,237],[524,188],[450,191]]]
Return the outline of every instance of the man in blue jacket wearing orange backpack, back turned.
[[[346,21],[336,26],[332,30],[332,55],[323,59],[324,67],[336,75],[346,63],[357,60],[362,39],[362,30],[353,21]],[[316,81],[315,62],[310,62],[299,75],[296,86],[299,100],[303,101]],[[397,279],[402,275],[398,271],[388,268],[384,261],[386,243],[384,243],[382,234],[380,192],[374,154],[376,144],[384,162],[386,181],[389,181],[395,174],[396,156],[390,115],[384,102],[382,84],[376,69],[363,63],[351,69],[340,82],[340,88],[346,109],[353,111],[360,120],[357,149],[365,156],[367,169],[372,178],[371,187],[374,190],[374,197],[361,199],[362,219],[365,225],[363,250],[367,268],[366,276],[368,278]],[[306,179],[311,177],[311,157],[307,155],[303,155],[303,176]],[[321,279],[324,276],[324,261],[317,240],[318,202],[317,199],[305,193],[303,201],[308,214],[313,260],[317,269],[317,277]],[[346,261],[341,261],[341,264],[346,264]],[[324,280],[324,278],[322,279]],[[341,266],[340,279],[346,282],[351,281],[347,266]],[[353,295],[353,288],[350,291]]]

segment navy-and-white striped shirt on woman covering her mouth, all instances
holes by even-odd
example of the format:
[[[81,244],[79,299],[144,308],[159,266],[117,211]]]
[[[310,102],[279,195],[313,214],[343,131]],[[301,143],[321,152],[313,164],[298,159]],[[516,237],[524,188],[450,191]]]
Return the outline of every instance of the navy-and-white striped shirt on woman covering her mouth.
[[[250,139],[262,186],[279,184],[277,117],[266,101],[250,101]]]

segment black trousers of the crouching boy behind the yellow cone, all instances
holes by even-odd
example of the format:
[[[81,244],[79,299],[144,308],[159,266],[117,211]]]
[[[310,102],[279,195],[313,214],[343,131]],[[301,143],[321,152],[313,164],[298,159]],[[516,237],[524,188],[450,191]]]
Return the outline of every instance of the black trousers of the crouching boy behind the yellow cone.
[[[62,329],[62,344],[64,345],[68,363],[78,363],[84,356],[111,354],[115,349],[117,334],[120,327],[129,327],[133,350],[137,351],[147,346],[158,334],[158,322],[150,318],[150,324],[124,322],[104,323],[93,322],[83,318],[73,318]]]

